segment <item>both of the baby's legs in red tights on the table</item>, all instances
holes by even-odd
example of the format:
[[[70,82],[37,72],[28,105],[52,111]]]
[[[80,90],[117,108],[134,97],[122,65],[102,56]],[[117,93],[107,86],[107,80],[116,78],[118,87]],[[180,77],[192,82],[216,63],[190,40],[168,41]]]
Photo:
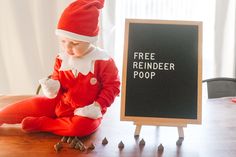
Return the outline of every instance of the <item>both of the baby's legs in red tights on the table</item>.
[[[0,110],[0,124],[22,124],[26,132],[46,131],[62,136],[86,136],[96,131],[101,118],[57,117],[55,99],[33,97]]]

